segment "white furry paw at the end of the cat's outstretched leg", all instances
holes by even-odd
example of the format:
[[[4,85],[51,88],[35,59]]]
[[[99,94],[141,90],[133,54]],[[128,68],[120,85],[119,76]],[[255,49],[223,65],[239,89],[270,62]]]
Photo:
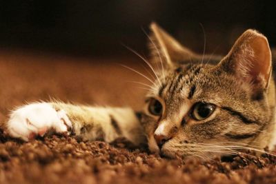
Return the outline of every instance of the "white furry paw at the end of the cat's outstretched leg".
[[[43,136],[48,130],[68,132],[72,127],[66,112],[56,111],[48,103],[32,103],[15,110],[7,123],[10,136],[21,138],[24,141]]]

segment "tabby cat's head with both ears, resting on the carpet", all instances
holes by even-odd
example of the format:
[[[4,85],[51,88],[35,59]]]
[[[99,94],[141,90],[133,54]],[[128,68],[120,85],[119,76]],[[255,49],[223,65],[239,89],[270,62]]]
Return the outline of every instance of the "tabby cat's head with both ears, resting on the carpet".
[[[184,48],[155,23],[150,28],[159,65],[141,117],[150,151],[210,157],[271,144],[275,92],[264,35],[247,30],[226,57],[213,57]]]

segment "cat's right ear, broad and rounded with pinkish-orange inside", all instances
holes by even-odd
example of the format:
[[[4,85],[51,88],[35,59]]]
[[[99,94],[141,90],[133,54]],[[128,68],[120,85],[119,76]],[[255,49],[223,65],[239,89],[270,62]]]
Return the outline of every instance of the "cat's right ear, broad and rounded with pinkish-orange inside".
[[[219,67],[255,88],[267,88],[271,76],[268,40],[255,30],[246,30],[221,60]]]

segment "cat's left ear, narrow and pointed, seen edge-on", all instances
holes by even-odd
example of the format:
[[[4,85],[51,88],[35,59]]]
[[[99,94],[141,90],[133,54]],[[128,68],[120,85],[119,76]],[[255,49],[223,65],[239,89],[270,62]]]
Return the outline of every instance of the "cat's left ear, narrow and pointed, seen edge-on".
[[[173,66],[179,61],[190,61],[198,58],[198,55],[185,48],[181,43],[174,39],[157,23],[150,24],[149,48],[152,59],[161,61],[168,66]]]

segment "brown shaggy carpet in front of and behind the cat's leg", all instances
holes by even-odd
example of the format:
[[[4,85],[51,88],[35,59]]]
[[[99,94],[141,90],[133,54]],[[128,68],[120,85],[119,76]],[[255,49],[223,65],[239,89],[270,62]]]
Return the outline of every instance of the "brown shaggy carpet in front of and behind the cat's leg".
[[[130,81],[146,80],[117,63],[145,73],[137,59],[1,51],[0,121],[16,105],[50,97],[141,108],[144,90]],[[170,160],[125,146],[58,135],[23,143],[1,130],[0,183],[276,183],[276,158],[268,154],[248,152],[226,161]]]

